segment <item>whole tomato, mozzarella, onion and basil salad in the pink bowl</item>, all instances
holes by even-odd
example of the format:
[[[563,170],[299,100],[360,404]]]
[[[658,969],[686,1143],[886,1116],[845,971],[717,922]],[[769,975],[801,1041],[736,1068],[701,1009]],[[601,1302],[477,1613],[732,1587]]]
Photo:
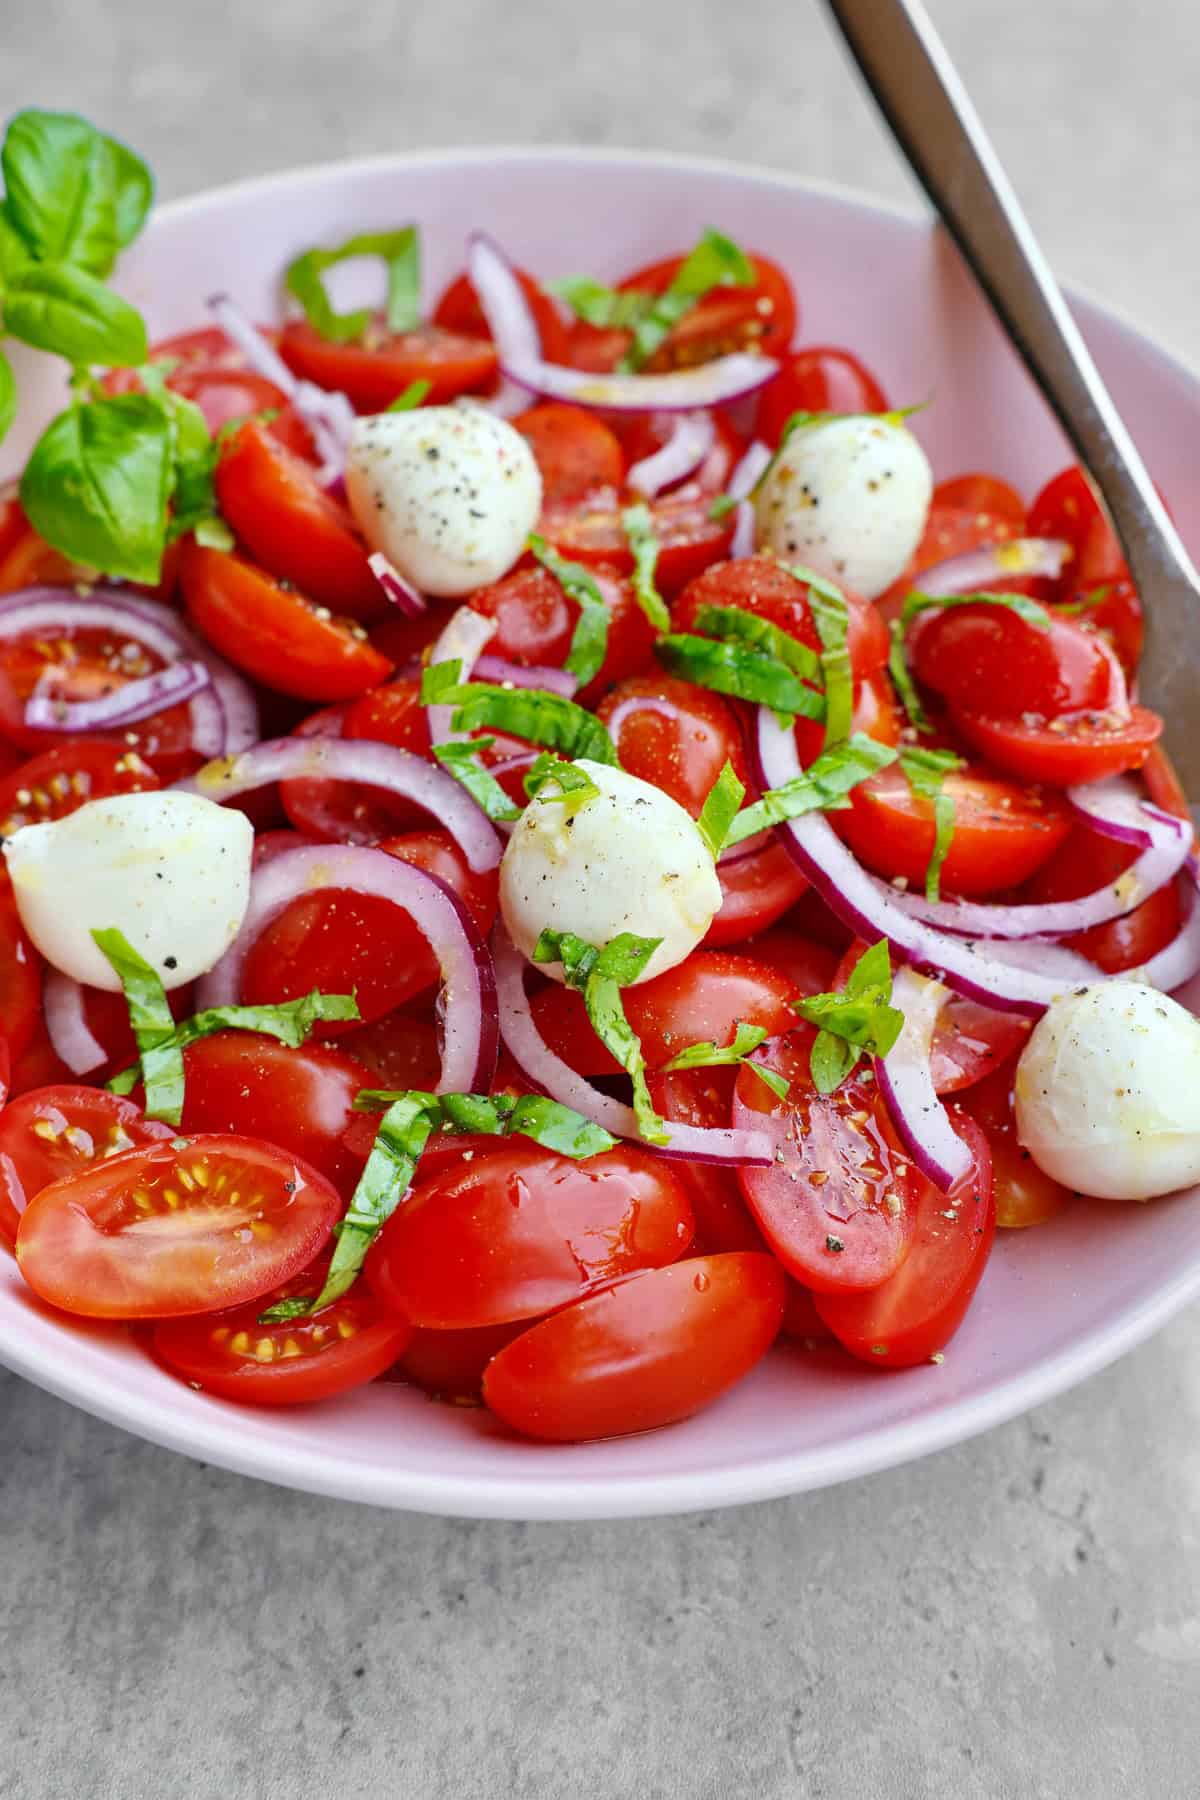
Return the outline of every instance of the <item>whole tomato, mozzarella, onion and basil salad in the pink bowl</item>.
[[[230,247],[151,346],[144,164],[25,112],[0,166],[4,333],[70,369],[0,509],[38,1303],[585,1440],[781,1332],[939,1363],[997,1226],[1200,1179],[1193,826],[1079,470],[936,479],[716,229],[612,283],[482,220],[430,308],[401,216],[270,320]]]

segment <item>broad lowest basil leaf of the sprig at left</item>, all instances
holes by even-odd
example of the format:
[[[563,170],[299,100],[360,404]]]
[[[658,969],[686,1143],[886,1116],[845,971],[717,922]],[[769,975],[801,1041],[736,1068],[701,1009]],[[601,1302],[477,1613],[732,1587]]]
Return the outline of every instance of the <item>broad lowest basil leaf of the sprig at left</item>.
[[[70,562],[155,583],[171,491],[171,428],[149,394],[68,407],[22,475],[31,526]]]

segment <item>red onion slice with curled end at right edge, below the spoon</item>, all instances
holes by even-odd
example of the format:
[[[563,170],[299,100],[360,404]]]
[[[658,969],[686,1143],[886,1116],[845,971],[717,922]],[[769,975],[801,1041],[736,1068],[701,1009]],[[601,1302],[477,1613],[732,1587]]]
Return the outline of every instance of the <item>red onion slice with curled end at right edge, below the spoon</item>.
[[[927,900],[898,893],[876,880],[889,900],[909,918],[968,938],[1063,938],[1108,920],[1124,918],[1142,900],[1166,887],[1187,862],[1193,828],[1142,799],[1132,781],[1115,778],[1070,788],[1072,808],[1092,830],[1123,844],[1141,846],[1141,857],[1123,875],[1079,900],[1045,905],[997,905],[988,900]]]

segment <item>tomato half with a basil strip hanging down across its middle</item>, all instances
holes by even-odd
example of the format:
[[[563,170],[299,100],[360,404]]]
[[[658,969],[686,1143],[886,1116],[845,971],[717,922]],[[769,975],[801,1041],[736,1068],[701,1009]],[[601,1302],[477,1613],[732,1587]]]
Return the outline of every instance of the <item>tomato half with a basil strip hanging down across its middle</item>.
[[[941,866],[941,886],[952,895],[1016,887],[1070,832],[1070,814],[1056,794],[1031,792],[988,769],[950,770],[943,792],[954,799],[954,837]],[[925,886],[934,803],[912,792],[898,765],[860,781],[849,806],[829,814],[829,823],[876,875]]]

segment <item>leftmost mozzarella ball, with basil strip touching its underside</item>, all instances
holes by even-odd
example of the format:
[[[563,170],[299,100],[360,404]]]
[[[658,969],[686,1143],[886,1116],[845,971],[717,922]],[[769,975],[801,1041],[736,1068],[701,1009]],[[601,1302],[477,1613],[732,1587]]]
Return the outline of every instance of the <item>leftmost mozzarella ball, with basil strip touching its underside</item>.
[[[92,932],[115,925],[164,988],[182,988],[241,931],[252,851],[245,812],[171,790],[94,799],[4,844],[16,909],[47,963],[113,992],[121,979]]]

